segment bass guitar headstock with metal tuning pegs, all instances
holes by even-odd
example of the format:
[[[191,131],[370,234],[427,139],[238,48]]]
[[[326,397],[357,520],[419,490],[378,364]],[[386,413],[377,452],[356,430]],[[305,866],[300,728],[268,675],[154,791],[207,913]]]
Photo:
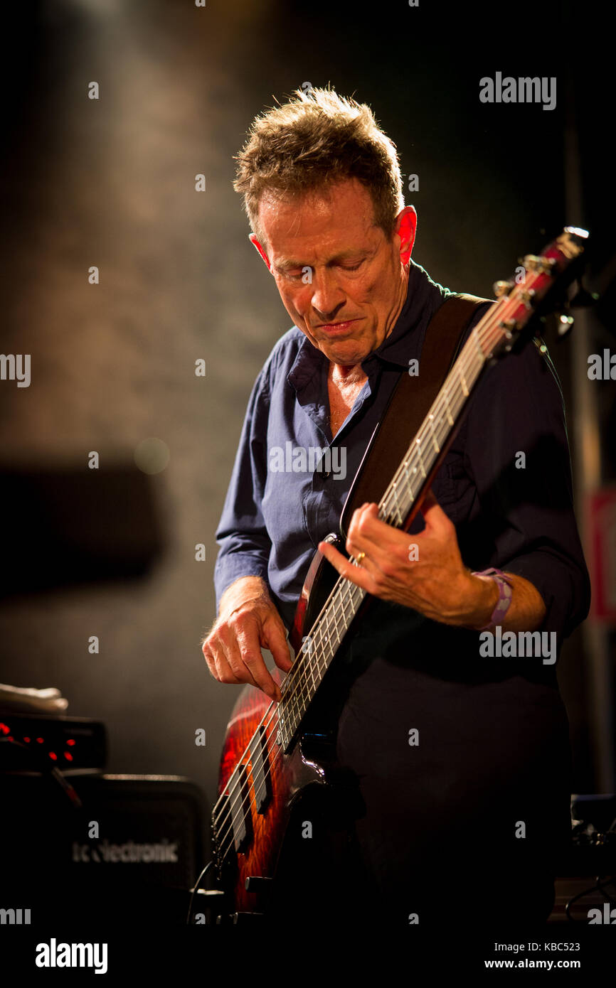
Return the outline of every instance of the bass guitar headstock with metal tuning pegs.
[[[525,342],[537,318],[563,305],[567,288],[579,273],[587,239],[587,230],[566,226],[541,254],[520,258],[520,266],[510,281],[494,284],[497,302],[490,316],[500,316],[502,336],[490,357],[508,353],[516,344]],[[571,324],[572,318],[568,316],[565,321]]]

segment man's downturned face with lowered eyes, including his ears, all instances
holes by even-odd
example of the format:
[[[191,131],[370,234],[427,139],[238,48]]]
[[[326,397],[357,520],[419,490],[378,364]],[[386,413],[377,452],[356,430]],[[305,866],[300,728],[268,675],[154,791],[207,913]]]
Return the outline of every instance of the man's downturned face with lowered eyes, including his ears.
[[[390,334],[404,303],[413,207],[398,214],[388,241],[374,225],[370,193],[348,179],[301,199],[266,192],[259,219],[268,246],[250,240],[295,325],[334,364],[361,363]]]

